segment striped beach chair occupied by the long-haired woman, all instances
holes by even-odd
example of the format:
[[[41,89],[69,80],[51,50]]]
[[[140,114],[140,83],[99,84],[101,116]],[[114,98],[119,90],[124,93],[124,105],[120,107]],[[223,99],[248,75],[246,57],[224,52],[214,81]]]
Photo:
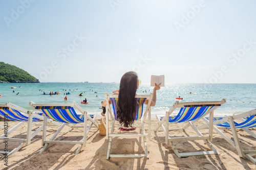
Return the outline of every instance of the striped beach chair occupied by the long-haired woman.
[[[152,101],[152,96],[153,94],[151,93],[150,95],[138,95],[136,94],[135,96],[135,101],[136,102],[136,114],[135,114],[135,122],[140,122],[140,126],[138,127],[133,127],[133,128],[139,128],[140,133],[130,133],[130,132],[120,132],[120,130],[116,130],[115,128],[121,128],[119,124],[119,119],[117,118],[117,101],[118,101],[118,94],[111,94],[109,95],[108,93],[105,93],[105,99],[106,101],[112,102],[112,107],[113,107],[113,113],[111,111],[111,106],[109,102],[106,102],[106,139],[109,139],[109,147],[108,147],[108,152],[106,154],[106,159],[109,160],[110,157],[123,157],[123,158],[141,158],[141,157],[146,157],[148,159],[148,151],[147,151],[147,144],[146,144],[146,137],[148,139],[151,139],[151,106],[150,103]],[[145,111],[143,111],[143,104],[145,100],[148,100],[148,105],[146,106]],[[144,128],[144,123],[145,119],[148,113],[148,133],[145,133],[145,128]],[[117,125],[115,122],[118,122]],[[109,122],[112,122],[111,126],[111,132],[109,132]],[[123,128],[126,129],[126,128]],[[112,139],[113,137],[142,137],[143,142],[144,142],[144,149],[145,149],[145,154],[110,154],[111,152],[111,144],[112,144]]]

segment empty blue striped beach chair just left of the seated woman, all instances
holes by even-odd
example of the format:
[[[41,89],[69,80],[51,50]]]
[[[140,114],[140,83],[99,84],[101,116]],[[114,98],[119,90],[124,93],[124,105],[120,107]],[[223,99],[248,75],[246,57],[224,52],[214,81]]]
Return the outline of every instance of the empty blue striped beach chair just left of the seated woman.
[[[44,112],[44,128],[42,131],[42,145],[44,148],[39,152],[44,152],[50,143],[71,143],[71,144],[79,144],[79,147],[76,151],[77,155],[81,148],[86,146],[87,135],[89,130],[92,128],[94,124],[96,128],[98,128],[98,124],[95,122],[95,115],[87,114],[87,111],[84,111],[77,103],[73,102],[72,104],[35,104],[33,102],[29,103],[30,106]],[[77,114],[75,111],[79,111]],[[87,118],[84,118],[87,117]],[[56,131],[56,133],[51,137],[50,140],[46,140],[46,130],[47,130],[47,119],[50,118],[55,120],[56,122],[62,123],[60,128]],[[89,126],[87,126],[87,120],[91,122]],[[75,124],[83,123],[82,126],[76,126]],[[70,128],[83,128],[83,138],[80,141],[70,141],[70,140],[54,140],[59,132],[65,127],[69,126]]]

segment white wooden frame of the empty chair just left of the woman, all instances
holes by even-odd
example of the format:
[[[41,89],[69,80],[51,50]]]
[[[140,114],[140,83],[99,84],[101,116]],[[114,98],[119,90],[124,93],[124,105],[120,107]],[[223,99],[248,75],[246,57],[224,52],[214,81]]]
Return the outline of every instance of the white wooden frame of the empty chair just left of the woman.
[[[91,128],[98,128],[98,124],[95,122],[97,114],[94,115],[94,117],[90,117],[89,114],[87,114],[87,111],[84,111],[76,102],[73,102],[72,104],[35,104],[34,102],[29,103],[30,106],[36,107],[36,106],[70,106],[73,108],[76,108],[82,115],[84,115],[84,122],[83,126],[76,126],[76,124],[67,124],[67,123],[62,123],[60,128],[54,133],[54,135],[50,138],[50,140],[46,140],[46,132],[47,132],[47,121],[49,118],[47,115],[44,114],[44,125],[43,125],[43,130],[42,130],[42,146],[44,148],[39,152],[41,154],[44,152],[48,147],[50,143],[70,143],[70,144],[79,144],[79,147],[75,153],[75,156],[80,152],[82,147],[86,146],[86,141],[87,141],[87,135],[90,131]],[[91,124],[87,126],[87,119],[90,120]],[[95,125],[95,126],[92,126]],[[83,138],[80,141],[70,141],[70,140],[54,140],[59,132],[65,127],[68,126],[72,129],[74,128],[83,128]]]

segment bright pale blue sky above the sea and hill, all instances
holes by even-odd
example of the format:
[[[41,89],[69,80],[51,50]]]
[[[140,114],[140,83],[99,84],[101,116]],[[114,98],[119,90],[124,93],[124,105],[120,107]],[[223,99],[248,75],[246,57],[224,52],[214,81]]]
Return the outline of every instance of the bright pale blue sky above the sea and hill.
[[[145,83],[151,75],[256,83],[255,7],[252,0],[1,1],[0,57],[41,82],[119,82],[135,70]]]

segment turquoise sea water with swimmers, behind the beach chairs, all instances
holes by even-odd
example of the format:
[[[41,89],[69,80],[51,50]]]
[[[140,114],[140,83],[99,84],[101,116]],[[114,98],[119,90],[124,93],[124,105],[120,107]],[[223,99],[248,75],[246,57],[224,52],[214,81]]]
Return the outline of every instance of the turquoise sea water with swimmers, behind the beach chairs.
[[[12,86],[16,88],[11,89]],[[19,86],[22,87],[19,88]],[[112,93],[118,88],[119,83],[0,84],[0,94],[3,95],[0,98],[0,104],[10,102],[32,110],[29,106],[30,101],[35,103],[72,103],[75,101],[89,114],[94,114],[102,111],[99,107],[101,107],[101,101],[104,100],[104,93]],[[43,91],[49,93],[50,90],[60,92],[60,94],[41,95]],[[18,92],[19,95],[16,95]],[[67,95],[68,101],[64,100],[66,92],[71,93]],[[78,96],[81,92],[83,96]],[[148,84],[141,84],[137,90],[137,93],[141,94],[150,92],[153,92],[153,87]],[[182,102],[226,99],[227,103],[216,109],[215,116],[232,115],[256,109],[256,84],[169,84],[157,91],[157,104],[152,108],[152,114],[165,114],[165,111],[176,101],[175,98],[179,96],[183,98]],[[87,98],[89,104],[80,104],[84,98]],[[178,110],[175,113],[178,113]]]

